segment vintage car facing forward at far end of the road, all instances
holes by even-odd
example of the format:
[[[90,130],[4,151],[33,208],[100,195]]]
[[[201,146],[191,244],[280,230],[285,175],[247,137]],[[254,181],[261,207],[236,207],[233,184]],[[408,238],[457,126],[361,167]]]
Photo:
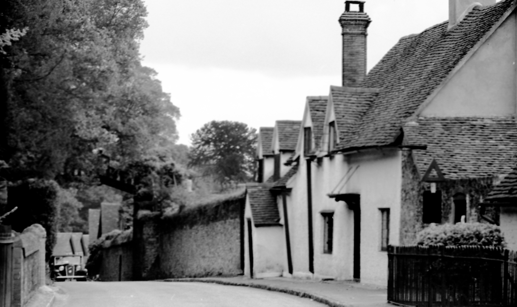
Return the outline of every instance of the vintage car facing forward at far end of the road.
[[[81,255],[52,255],[50,259],[51,278],[55,281],[86,281],[87,271],[81,267]]]

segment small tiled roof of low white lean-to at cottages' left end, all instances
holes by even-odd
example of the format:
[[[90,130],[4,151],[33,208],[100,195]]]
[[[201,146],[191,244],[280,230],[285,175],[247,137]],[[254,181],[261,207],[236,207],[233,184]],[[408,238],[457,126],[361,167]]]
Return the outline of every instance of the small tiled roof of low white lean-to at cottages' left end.
[[[248,189],[248,197],[251,205],[253,223],[258,226],[280,225],[280,213],[278,212],[277,199],[269,192],[269,189]]]

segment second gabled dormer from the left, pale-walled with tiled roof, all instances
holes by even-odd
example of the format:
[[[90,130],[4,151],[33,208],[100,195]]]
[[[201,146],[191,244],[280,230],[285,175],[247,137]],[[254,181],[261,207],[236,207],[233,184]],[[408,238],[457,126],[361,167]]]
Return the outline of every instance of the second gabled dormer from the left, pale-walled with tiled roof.
[[[285,162],[295,155],[300,127],[301,120],[276,121],[271,141],[273,153],[275,154],[273,181],[277,181],[290,170],[290,166],[286,166]]]

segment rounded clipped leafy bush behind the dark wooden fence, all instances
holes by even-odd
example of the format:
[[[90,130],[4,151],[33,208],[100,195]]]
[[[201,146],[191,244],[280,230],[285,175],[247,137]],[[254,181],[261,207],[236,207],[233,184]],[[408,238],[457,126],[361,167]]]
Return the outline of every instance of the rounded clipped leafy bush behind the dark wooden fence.
[[[482,246],[504,248],[505,239],[501,229],[492,224],[457,223],[434,225],[417,234],[418,245]]]

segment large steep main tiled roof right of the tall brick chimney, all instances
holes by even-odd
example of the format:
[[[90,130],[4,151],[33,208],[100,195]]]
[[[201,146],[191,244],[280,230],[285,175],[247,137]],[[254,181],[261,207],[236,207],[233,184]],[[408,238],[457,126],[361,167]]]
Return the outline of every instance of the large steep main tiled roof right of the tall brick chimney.
[[[382,91],[338,149],[391,144],[405,119],[414,115],[514,2],[477,6],[450,30],[444,22],[402,38],[360,84]]]

